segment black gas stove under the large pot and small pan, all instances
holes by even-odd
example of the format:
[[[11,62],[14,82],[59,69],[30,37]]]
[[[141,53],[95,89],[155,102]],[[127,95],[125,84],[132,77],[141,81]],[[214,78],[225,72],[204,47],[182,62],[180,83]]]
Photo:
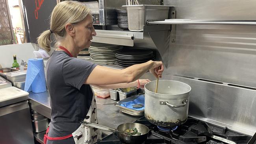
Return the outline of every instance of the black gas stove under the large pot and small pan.
[[[186,123],[169,128],[151,124],[145,117],[135,122],[144,124],[150,129],[144,144],[256,144],[256,134],[253,137],[243,135],[228,127],[216,126],[191,117],[188,117]],[[122,142],[112,133],[98,140],[96,144],[122,144]]]

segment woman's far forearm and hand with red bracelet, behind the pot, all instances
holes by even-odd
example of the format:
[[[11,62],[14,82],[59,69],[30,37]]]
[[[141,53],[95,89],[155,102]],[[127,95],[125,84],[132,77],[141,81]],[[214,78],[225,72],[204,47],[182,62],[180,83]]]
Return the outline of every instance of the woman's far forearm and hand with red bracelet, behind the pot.
[[[118,83],[118,84],[111,84],[111,85],[93,85],[93,86],[99,87],[101,89],[119,89],[119,88],[126,88],[126,87],[144,88],[144,85],[149,81],[150,81],[149,79],[138,79],[136,81],[133,81],[132,83]]]

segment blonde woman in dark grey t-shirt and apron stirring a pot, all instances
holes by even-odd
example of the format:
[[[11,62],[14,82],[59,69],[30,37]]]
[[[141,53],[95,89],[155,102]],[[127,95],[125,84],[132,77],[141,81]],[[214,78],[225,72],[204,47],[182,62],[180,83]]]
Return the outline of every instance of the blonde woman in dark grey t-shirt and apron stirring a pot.
[[[88,48],[96,35],[89,11],[80,2],[60,2],[52,11],[50,30],[38,37],[39,45],[50,51],[50,35],[53,33],[58,47],[46,64],[52,108],[51,125],[48,135],[45,135],[47,144],[92,144],[101,137],[99,129],[79,123],[81,120],[98,123],[96,101],[90,85],[106,88],[135,86],[134,81],[148,70],[156,77],[161,77],[163,72],[160,61],[115,70],[77,59],[78,53]],[[142,85],[146,82],[141,80]]]

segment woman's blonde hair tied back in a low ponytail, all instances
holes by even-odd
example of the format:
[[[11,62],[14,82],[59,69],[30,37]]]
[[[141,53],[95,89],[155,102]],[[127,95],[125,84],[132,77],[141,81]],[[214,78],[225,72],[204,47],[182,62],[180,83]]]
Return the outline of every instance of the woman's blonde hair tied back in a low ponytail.
[[[43,31],[37,37],[37,42],[41,48],[50,51],[50,35],[54,33],[58,47],[66,35],[65,25],[67,23],[74,24],[83,21],[87,15],[90,15],[90,9],[77,1],[63,1],[57,4],[52,13],[50,20],[50,30]]]

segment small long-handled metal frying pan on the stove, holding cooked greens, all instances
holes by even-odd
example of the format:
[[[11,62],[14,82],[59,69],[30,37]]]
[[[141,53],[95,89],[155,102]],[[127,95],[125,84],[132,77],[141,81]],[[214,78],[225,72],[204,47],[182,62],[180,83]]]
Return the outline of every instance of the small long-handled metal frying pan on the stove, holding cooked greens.
[[[103,129],[105,131],[111,131],[117,133],[117,137],[121,140],[121,142],[124,142],[126,144],[142,144],[147,140],[148,138],[148,127],[144,126],[143,124],[138,124],[138,123],[123,123],[120,124],[117,129],[113,129],[111,127],[106,127],[106,126],[101,126],[99,124],[93,124],[89,122],[80,122],[81,124],[85,126],[90,126],[90,127],[96,127],[98,129]],[[141,135],[128,135],[124,131],[126,129],[134,129],[137,128],[138,132],[141,133]]]

